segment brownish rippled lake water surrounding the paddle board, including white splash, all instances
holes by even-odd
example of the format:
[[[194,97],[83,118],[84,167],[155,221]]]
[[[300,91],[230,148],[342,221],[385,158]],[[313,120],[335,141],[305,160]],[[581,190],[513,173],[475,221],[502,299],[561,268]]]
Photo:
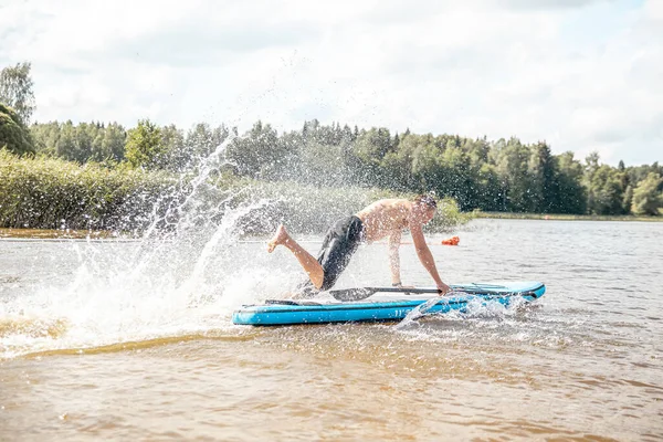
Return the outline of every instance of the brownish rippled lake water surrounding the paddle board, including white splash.
[[[431,245],[445,282],[547,294],[403,328],[252,328],[233,308],[302,278],[282,248],[223,229],[0,240],[0,440],[663,439],[663,223],[454,234],[460,246]],[[386,251],[362,246],[337,287],[388,284]],[[412,245],[401,261],[406,284],[432,285]]]

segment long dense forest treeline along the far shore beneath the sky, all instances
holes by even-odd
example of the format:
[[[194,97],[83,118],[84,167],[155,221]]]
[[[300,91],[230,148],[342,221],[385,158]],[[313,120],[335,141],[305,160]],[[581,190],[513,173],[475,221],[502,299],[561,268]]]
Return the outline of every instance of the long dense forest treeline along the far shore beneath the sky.
[[[186,172],[219,146],[239,177],[319,187],[377,187],[434,191],[462,210],[573,214],[657,214],[663,166],[618,167],[570,151],[552,155],[544,143],[490,141],[457,135],[392,134],[338,123],[306,122],[278,133],[257,122],[246,133],[206,123],[188,130],[140,120],[34,124],[32,151],[78,164],[102,162]]]

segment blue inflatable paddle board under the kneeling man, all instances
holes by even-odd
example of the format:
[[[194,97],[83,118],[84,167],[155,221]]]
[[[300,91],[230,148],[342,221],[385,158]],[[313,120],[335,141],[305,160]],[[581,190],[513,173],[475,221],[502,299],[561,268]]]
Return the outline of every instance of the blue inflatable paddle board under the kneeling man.
[[[546,293],[546,286],[539,282],[473,283],[451,287],[456,293],[448,296],[378,292],[358,302],[273,299],[261,305],[242,306],[233,313],[232,322],[239,325],[264,326],[400,320],[432,297],[440,298],[440,302],[427,313],[464,312],[471,302],[484,305],[499,303],[508,307],[516,298],[532,302]]]

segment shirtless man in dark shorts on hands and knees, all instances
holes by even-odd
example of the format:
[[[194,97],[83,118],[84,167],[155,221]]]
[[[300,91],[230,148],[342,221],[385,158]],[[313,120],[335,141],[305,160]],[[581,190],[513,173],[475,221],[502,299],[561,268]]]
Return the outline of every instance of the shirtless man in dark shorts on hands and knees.
[[[425,194],[420,194],[413,200],[376,201],[355,215],[340,219],[332,225],[325,235],[317,260],[297,244],[281,224],[274,238],[267,243],[267,252],[272,253],[276,245],[283,245],[293,252],[308,275],[309,281],[301,287],[302,294],[308,297],[334,286],[360,243],[371,243],[388,238],[391,282],[393,286],[401,286],[398,250],[402,230],[410,229],[419,261],[432,276],[440,294],[444,295],[451,292],[451,287],[440,278],[433,255],[421,230],[422,225],[433,218],[436,209],[435,200]]]

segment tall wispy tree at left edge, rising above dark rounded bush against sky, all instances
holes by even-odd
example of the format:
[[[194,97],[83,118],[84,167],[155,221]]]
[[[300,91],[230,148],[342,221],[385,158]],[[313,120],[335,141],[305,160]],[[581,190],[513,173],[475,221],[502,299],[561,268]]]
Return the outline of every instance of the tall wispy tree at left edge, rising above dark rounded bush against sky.
[[[0,103],[13,107],[24,125],[36,108],[30,67],[30,63],[18,63],[0,72]]]

